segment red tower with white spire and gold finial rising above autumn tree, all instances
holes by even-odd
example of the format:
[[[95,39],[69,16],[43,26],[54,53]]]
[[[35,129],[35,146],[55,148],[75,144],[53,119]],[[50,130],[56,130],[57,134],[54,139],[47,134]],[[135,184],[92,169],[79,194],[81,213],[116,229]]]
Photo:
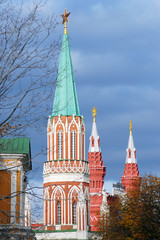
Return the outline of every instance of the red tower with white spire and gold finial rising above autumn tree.
[[[140,186],[141,176],[138,171],[138,164],[136,158],[136,149],[134,147],[133,136],[132,136],[132,121],[130,121],[130,134],[128,141],[128,148],[126,150],[126,163],[121,177],[121,182],[124,190],[128,192],[131,189],[136,189]]]

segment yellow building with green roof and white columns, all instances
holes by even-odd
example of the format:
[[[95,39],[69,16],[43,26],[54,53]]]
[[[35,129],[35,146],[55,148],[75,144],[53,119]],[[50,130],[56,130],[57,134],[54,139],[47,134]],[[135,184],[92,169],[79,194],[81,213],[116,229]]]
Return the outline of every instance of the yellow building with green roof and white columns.
[[[27,178],[31,170],[29,138],[0,139],[0,238],[7,229],[16,234],[30,225],[29,204],[26,205]],[[27,201],[28,203],[28,201]],[[26,213],[26,216],[25,216]],[[5,238],[4,238],[5,239]],[[7,239],[7,238],[6,238]],[[28,239],[28,238],[21,238]]]

